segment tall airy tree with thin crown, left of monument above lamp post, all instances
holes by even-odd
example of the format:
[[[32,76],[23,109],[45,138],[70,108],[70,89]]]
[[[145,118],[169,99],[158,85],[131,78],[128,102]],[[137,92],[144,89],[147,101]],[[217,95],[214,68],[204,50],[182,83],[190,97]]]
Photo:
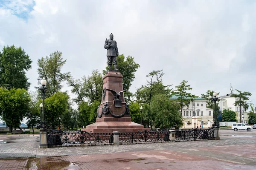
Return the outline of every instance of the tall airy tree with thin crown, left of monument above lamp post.
[[[46,97],[61,91],[64,82],[70,73],[62,73],[61,69],[66,63],[67,59],[62,58],[62,52],[55,51],[46,57],[38,59],[38,84],[41,84],[41,79],[44,77],[47,80],[48,91]]]

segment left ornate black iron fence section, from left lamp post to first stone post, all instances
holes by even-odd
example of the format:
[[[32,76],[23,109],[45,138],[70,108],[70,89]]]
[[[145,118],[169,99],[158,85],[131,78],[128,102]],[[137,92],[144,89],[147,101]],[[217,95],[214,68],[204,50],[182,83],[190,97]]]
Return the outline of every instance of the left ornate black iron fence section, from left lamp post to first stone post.
[[[47,131],[47,144],[99,144],[113,143],[113,133],[63,132],[59,130]]]

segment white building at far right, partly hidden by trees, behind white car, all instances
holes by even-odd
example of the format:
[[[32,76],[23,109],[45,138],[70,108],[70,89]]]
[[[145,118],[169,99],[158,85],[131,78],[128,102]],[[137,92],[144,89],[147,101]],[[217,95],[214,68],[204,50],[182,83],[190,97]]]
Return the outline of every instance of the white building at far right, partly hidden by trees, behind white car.
[[[236,122],[240,123],[240,107],[235,106],[235,102],[239,100],[239,98],[235,98],[232,94],[227,94],[226,96],[219,96],[220,101],[218,103],[220,107],[220,111],[223,112],[224,109],[230,109],[231,111],[236,112]],[[241,107],[241,122],[248,122],[248,112],[244,111],[244,108]]]

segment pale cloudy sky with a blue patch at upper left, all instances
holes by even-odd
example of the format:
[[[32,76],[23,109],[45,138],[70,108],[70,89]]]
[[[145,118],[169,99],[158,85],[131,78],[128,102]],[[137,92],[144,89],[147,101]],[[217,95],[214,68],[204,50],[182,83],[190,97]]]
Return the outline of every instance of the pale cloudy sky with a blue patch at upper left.
[[[225,95],[231,83],[256,104],[255,9],[254,0],[0,0],[0,49],[24,48],[33,60],[33,91],[38,58],[53,51],[63,52],[63,72],[76,79],[102,71],[112,32],[119,54],[141,66],[132,92],[163,69],[173,88],[184,79],[193,94]]]

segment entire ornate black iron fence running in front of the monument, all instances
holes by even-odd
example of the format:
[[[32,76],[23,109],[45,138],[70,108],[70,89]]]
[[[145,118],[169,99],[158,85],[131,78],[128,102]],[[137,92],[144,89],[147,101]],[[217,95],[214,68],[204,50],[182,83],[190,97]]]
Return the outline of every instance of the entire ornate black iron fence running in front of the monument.
[[[171,135],[174,137],[171,137]],[[198,140],[214,139],[214,128],[208,129],[157,129],[157,131],[144,130],[141,132],[121,133],[88,133],[88,132],[64,132],[60,130],[47,130],[47,144],[72,145],[72,144],[115,144],[138,142],[168,142],[170,140]],[[172,138],[172,139],[171,139]]]

